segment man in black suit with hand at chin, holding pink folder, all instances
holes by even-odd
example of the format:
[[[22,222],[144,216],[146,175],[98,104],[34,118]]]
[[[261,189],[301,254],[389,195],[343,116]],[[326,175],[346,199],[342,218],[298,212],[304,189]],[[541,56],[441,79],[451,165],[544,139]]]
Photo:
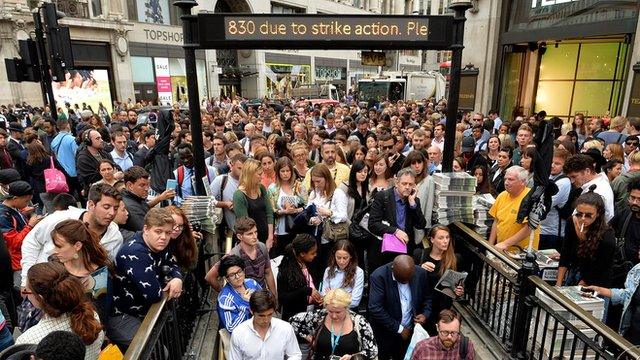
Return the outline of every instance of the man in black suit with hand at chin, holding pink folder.
[[[416,241],[422,241],[414,239],[414,229],[427,226],[417,193],[416,173],[411,168],[401,169],[395,186],[378,192],[369,212],[369,231],[379,238],[384,234],[395,235],[407,244],[408,254],[413,252]],[[393,260],[394,254],[381,253],[381,245],[381,241],[374,239],[369,246],[371,271]]]

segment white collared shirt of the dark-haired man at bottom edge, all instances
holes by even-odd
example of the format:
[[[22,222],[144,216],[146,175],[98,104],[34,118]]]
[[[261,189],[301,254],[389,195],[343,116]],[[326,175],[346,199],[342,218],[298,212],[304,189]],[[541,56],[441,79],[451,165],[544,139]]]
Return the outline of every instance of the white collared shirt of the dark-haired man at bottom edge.
[[[276,318],[271,319],[264,340],[253,327],[253,319],[238,325],[231,334],[230,347],[229,360],[302,359],[293,327]]]

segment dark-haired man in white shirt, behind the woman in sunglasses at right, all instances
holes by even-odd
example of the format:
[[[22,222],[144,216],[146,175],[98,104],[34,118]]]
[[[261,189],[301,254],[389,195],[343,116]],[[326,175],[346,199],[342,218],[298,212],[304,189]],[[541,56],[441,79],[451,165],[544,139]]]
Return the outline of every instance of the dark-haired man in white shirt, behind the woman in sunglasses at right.
[[[609,179],[604,174],[598,174],[595,170],[596,160],[590,155],[577,154],[567,159],[563,171],[571,180],[574,187],[582,188],[582,193],[589,191],[591,185],[595,185],[594,192],[604,200],[605,219],[607,222],[613,218],[613,190]]]

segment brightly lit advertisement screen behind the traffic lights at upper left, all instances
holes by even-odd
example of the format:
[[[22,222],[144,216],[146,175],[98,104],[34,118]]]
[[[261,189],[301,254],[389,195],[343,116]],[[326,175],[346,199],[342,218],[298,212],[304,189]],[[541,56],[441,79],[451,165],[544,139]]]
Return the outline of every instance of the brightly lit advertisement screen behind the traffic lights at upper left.
[[[56,104],[60,107],[69,103],[72,106],[78,104],[82,109],[84,104],[98,112],[102,103],[109,112],[112,110],[108,70],[71,70],[66,73],[65,81],[54,82],[52,87]]]

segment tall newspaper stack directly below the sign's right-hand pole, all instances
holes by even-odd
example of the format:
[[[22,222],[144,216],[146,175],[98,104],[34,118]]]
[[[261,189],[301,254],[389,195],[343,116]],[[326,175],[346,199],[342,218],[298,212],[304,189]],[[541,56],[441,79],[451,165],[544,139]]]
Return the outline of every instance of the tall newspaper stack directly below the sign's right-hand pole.
[[[433,221],[448,225],[455,221],[473,223],[473,195],[476,178],[465,172],[434,173]]]

